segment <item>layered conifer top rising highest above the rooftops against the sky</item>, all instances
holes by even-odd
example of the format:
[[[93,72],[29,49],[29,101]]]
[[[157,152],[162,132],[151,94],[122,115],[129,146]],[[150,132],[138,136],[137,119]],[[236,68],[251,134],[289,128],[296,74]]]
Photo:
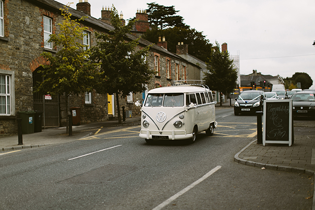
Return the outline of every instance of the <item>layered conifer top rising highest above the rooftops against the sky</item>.
[[[160,29],[174,26],[186,27],[183,23],[183,17],[175,15],[178,11],[175,10],[174,6],[166,7],[155,2],[147,3],[147,5],[146,12],[151,26]]]

